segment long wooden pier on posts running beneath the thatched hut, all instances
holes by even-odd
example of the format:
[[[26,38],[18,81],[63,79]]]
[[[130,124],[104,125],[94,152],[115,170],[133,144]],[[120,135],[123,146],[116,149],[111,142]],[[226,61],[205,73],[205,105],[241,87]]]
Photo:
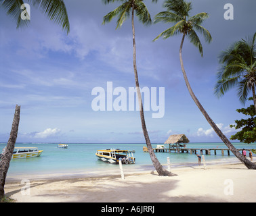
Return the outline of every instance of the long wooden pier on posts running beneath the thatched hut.
[[[190,153],[190,154],[200,154],[200,155],[211,155],[211,151],[214,152],[214,155],[217,155],[217,151],[221,151],[221,155],[224,155],[227,152],[227,155],[230,155],[230,150],[228,148],[153,148],[156,153]],[[242,153],[242,148],[237,149]],[[245,151],[251,151],[251,149],[245,149]],[[143,151],[147,152],[148,148],[143,147]]]

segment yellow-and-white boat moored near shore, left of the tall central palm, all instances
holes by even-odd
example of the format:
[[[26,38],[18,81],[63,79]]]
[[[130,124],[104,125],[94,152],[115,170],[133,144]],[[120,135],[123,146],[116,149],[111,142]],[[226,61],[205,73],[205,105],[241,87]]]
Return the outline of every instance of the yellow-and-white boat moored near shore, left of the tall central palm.
[[[119,160],[122,160],[122,163],[133,164],[135,163],[135,157],[133,157],[133,153],[128,150],[120,150],[120,149],[104,149],[98,150],[95,153],[98,159],[108,162],[108,163],[119,163]]]

